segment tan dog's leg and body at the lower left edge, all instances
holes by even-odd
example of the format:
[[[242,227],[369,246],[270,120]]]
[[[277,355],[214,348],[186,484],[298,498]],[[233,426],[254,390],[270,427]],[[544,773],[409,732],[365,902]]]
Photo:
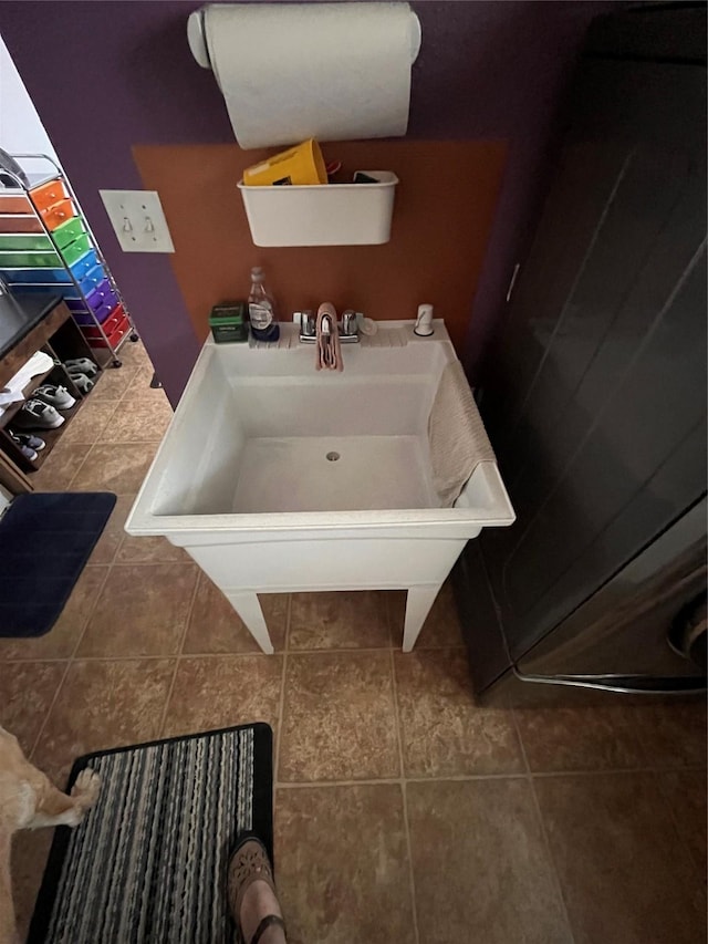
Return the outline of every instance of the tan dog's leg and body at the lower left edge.
[[[10,849],[12,833],[42,826],[77,826],[98,798],[101,780],[82,770],[71,797],[22,754],[17,737],[0,727],[0,944],[19,941],[12,905]]]

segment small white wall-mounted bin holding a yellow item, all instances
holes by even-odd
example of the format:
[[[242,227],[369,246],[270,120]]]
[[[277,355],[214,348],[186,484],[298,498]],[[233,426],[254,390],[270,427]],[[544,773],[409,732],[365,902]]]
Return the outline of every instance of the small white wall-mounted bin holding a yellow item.
[[[247,187],[239,181],[256,246],[376,246],[388,242],[398,178],[378,184]]]

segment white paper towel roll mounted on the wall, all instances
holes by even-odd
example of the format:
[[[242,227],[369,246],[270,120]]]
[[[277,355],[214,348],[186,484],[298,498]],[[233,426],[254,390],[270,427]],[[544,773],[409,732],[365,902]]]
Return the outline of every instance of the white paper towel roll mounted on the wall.
[[[188,32],[241,147],[406,133],[420,46],[407,3],[217,3]]]

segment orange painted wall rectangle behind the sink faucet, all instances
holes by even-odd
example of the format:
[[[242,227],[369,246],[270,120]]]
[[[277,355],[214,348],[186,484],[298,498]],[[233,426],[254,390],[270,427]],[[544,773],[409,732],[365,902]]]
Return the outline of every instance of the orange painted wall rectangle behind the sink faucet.
[[[289,320],[300,309],[332,301],[373,319],[415,318],[435,305],[458,350],[493,218],[507,144],[501,141],[366,141],[323,145],[325,159],[356,169],[394,170],[391,241],[383,246],[253,246],[237,183],[243,168],[272,149],[228,145],[136,145],[147,189],[158,190],[175,253],[170,257],[197,336],[209,330],[211,305],[246,298],[252,266]]]

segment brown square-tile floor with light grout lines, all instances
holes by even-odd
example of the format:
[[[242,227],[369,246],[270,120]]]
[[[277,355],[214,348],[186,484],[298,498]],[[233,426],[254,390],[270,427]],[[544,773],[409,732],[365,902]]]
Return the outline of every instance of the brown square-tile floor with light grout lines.
[[[33,760],[61,784],[88,750],[269,722],[293,944],[705,940],[702,706],[477,707],[447,589],[410,655],[400,593],[264,598],[260,654],[181,551],[123,533],[169,419],[124,350],[35,479],[119,497],[58,625],[0,641]],[[14,844],[22,927],[50,841]]]

